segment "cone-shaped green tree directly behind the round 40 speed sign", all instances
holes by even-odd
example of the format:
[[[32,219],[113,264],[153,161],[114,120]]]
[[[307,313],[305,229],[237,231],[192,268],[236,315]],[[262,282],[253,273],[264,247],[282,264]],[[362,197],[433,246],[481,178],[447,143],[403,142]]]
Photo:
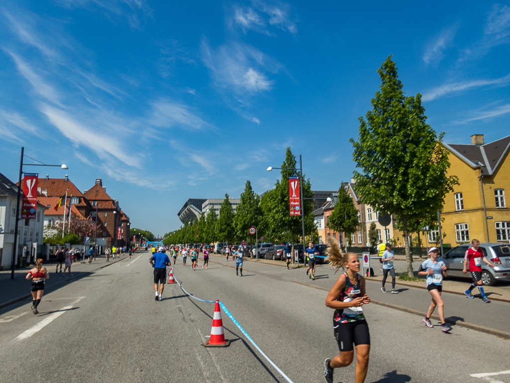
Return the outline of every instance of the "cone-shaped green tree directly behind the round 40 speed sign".
[[[248,229],[250,226],[257,226],[258,228],[261,217],[262,208],[260,207],[259,195],[253,192],[250,181],[246,181],[234,217],[236,240],[238,242],[244,240],[249,235]]]

